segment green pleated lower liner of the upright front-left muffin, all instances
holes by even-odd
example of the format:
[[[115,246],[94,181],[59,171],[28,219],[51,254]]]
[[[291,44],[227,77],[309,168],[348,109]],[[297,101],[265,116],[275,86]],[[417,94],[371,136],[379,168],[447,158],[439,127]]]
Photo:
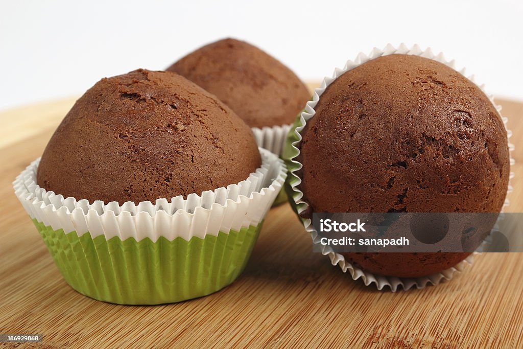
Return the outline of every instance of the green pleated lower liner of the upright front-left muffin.
[[[263,224],[192,237],[122,241],[65,234],[36,219],[40,235],[65,281],[88,297],[126,305],[172,303],[209,295],[240,275]]]

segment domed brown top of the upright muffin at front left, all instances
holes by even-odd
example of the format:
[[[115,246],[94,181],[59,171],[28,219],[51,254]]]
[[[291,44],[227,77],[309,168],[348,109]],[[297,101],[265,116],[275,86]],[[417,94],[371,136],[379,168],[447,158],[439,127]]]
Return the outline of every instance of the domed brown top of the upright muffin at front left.
[[[42,155],[37,183],[90,202],[201,194],[260,166],[251,129],[186,78],[136,70],[77,100]]]

